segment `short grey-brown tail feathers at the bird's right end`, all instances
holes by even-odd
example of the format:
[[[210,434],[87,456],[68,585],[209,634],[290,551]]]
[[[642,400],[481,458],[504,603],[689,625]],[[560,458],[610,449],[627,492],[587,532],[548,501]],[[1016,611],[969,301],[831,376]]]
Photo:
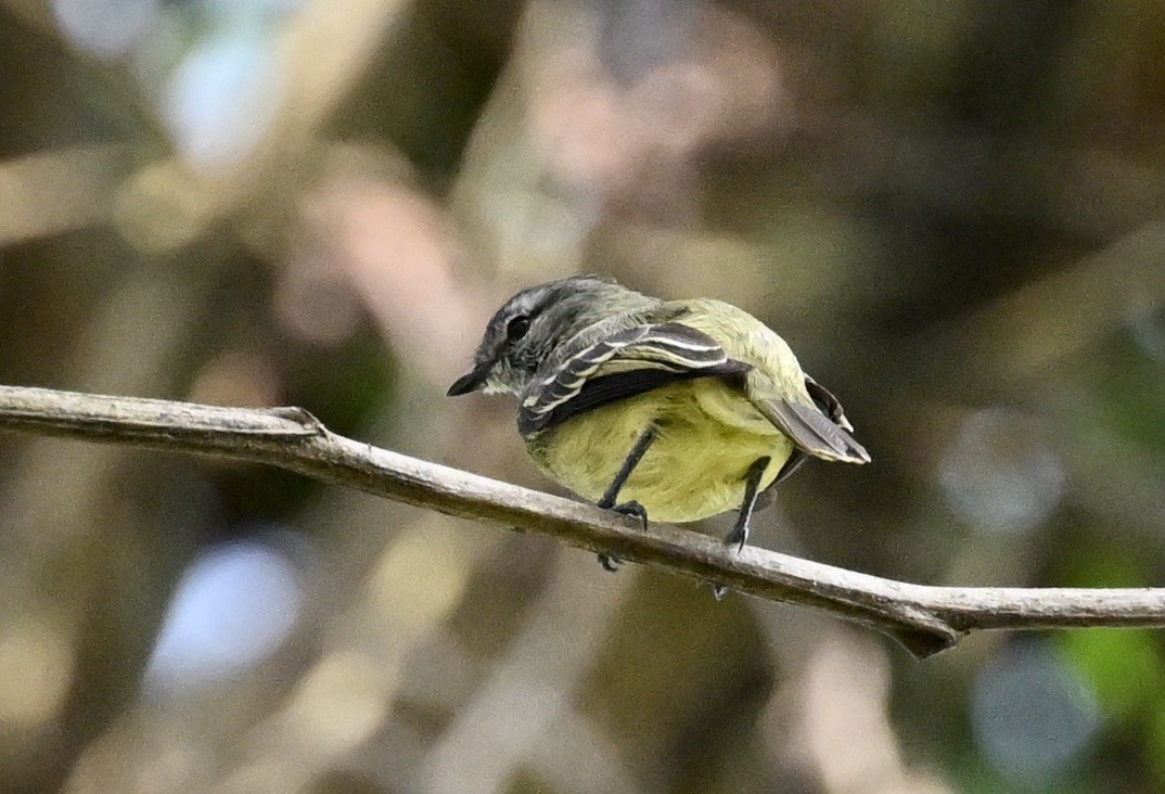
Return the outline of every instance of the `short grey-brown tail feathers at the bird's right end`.
[[[809,376],[805,388],[817,405],[767,389],[756,381],[749,383],[748,392],[756,409],[792,439],[798,449],[822,460],[869,463],[869,453],[847,432],[850,426],[838,398]]]

